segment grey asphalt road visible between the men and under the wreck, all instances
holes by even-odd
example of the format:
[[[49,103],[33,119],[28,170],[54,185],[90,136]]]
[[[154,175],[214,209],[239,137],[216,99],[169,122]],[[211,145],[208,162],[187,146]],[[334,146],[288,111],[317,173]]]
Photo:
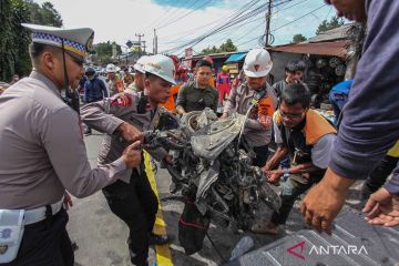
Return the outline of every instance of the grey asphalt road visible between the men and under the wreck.
[[[88,156],[92,167],[96,165],[96,156],[100,149],[102,135],[95,133],[85,137]],[[171,177],[164,170],[158,170],[155,176],[157,192],[161,197],[168,195]],[[356,195],[356,191],[354,195]],[[114,216],[101,192],[86,197],[74,198],[74,206],[69,211],[70,223],[68,231],[71,239],[79,248],[75,252],[75,266],[127,266],[130,264],[129,250],[126,245],[127,227]],[[357,200],[349,202],[352,205],[358,204]],[[211,225],[209,235],[219,249],[224,258],[229,258],[234,245],[245,235],[249,235],[255,241],[255,247],[267,245],[270,242],[306,228],[298,212],[299,204],[296,204],[286,225],[286,232],[279,236],[255,235],[255,234],[234,234],[227,228],[221,228]],[[177,266],[202,266],[221,265],[222,258],[215,252],[211,242],[205,238],[203,249],[195,255],[187,256],[181,247],[177,237],[177,223],[180,214],[183,211],[183,204],[178,202],[162,203],[163,217],[166,223],[167,234],[174,237],[170,245],[173,265]],[[268,219],[269,213],[264,213],[262,218]],[[150,265],[156,265],[155,250],[152,248],[149,258]],[[157,265],[162,265],[157,264]],[[164,264],[168,266],[172,264]]]

